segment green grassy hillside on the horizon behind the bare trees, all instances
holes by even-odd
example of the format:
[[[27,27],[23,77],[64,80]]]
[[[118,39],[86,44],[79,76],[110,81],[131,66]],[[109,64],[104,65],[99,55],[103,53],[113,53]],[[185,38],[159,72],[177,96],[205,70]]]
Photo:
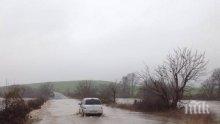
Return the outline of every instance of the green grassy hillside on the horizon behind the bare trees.
[[[65,92],[65,91],[74,91],[77,87],[77,85],[81,82],[79,81],[57,81],[57,82],[50,82],[54,85],[54,89],[57,92]],[[47,83],[47,82],[43,82]],[[29,86],[32,88],[38,88],[40,87],[43,83],[33,83],[33,84],[25,84],[25,86]],[[100,81],[100,80],[92,80],[91,81],[92,85],[95,87],[99,87],[101,85],[105,85],[108,83],[111,83],[110,81]]]

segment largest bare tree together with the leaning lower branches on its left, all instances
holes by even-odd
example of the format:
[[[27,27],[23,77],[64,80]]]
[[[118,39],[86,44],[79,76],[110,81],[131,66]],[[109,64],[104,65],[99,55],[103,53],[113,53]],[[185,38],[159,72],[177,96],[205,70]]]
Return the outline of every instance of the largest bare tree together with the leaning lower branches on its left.
[[[178,48],[168,55],[167,61],[162,66],[156,69],[156,76],[154,76],[156,80],[148,76],[150,78],[147,78],[147,81],[150,79],[153,82],[151,83],[153,87],[150,88],[155,93],[168,98],[171,106],[177,107],[177,103],[183,98],[186,85],[198,79],[204,73],[206,65],[205,53],[200,54],[188,48]]]

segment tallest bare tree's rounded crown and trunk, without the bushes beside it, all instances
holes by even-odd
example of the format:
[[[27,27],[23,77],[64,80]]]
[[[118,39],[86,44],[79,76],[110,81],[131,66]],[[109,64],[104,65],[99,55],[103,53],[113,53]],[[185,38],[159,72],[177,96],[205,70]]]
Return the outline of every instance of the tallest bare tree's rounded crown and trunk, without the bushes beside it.
[[[165,65],[160,70],[160,76],[169,83],[174,91],[172,106],[182,99],[184,88],[191,80],[197,80],[205,71],[207,61],[205,53],[192,52],[188,48],[174,50],[168,55]]]

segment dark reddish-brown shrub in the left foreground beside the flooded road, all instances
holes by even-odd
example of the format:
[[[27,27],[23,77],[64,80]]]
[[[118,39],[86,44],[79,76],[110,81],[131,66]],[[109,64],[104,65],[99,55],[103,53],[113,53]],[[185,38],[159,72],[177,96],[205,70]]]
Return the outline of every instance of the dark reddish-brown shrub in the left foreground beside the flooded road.
[[[22,98],[22,93],[23,89],[12,86],[4,94],[4,108],[0,111],[0,124],[24,124],[28,113],[33,109],[39,109],[48,99],[48,97],[38,97],[25,102]]]

